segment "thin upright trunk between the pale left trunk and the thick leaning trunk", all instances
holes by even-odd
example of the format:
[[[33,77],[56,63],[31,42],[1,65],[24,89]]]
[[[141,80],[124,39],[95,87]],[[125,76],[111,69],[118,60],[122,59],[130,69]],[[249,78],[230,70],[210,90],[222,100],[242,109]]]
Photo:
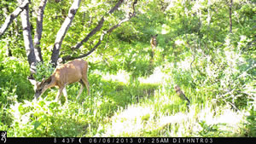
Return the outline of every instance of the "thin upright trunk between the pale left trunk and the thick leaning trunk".
[[[44,20],[44,8],[47,3],[47,0],[42,0],[39,7],[38,7],[38,20],[37,20],[37,30],[35,32],[34,37],[34,47],[35,47],[35,55],[37,61],[43,61],[41,48],[40,48],[40,41],[43,32],[43,20]]]

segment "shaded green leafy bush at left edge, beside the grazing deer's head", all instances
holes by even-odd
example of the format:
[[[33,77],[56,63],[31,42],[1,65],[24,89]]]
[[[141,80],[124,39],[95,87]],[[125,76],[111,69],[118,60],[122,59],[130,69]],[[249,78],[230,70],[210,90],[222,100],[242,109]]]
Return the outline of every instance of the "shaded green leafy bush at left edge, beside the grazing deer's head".
[[[27,84],[28,81],[26,80],[28,75],[26,61],[15,57],[5,57],[2,50],[0,57],[1,105],[29,99],[32,94],[32,87]]]

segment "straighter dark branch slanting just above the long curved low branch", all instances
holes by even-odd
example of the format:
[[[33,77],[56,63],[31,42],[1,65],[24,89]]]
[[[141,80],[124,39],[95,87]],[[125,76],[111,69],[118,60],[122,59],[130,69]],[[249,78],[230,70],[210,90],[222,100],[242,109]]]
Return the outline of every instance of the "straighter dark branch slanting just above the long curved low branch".
[[[119,2],[116,3],[115,6],[112,9],[110,9],[107,14],[112,14],[116,9],[119,8],[119,6],[123,2],[124,0],[119,0]],[[104,16],[102,16],[102,19],[98,22],[98,25],[86,37],[84,37],[84,39],[81,42],[77,43],[72,49],[73,50],[79,49],[83,45],[83,43],[86,43],[90,37],[96,34],[96,32],[100,31],[102,29],[104,21],[105,21]]]

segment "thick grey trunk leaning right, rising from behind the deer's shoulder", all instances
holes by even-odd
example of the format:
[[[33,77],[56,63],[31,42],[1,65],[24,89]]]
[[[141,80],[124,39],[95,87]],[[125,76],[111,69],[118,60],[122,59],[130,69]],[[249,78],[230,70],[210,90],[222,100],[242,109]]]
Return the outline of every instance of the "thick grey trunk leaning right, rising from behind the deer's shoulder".
[[[63,22],[63,24],[61,26],[61,29],[57,33],[57,36],[55,38],[54,48],[52,50],[52,55],[51,55],[51,63],[54,66],[57,66],[57,60],[59,59],[60,50],[61,50],[61,43],[67,33],[69,26],[71,25],[71,23],[73,21],[75,14],[77,13],[77,10],[79,9],[80,2],[81,2],[81,0],[73,1],[73,4],[68,11],[67,18],[65,19],[65,21]]]

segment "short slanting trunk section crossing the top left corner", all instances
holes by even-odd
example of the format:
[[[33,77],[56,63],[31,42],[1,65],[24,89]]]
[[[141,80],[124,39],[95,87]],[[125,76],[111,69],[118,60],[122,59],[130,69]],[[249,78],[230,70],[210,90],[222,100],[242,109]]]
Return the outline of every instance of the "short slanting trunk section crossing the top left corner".
[[[20,3],[20,6],[16,8],[12,14],[9,14],[9,16],[4,21],[3,26],[0,28],[0,37],[3,36],[3,33],[8,29],[13,20],[15,20],[15,18],[23,11],[23,9],[26,9],[26,5],[28,3],[29,1],[25,0],[24,2]]]

